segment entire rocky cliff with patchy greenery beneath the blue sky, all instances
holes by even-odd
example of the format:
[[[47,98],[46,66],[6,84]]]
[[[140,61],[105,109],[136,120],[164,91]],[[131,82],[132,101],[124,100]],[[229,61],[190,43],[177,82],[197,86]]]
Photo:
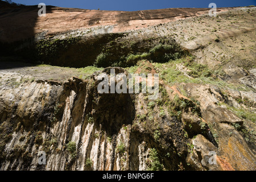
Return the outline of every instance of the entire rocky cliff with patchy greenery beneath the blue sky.
[[[255,7],[0,8],[1,170],[255,170]],[[113,67],[159,98],[98,93]]]

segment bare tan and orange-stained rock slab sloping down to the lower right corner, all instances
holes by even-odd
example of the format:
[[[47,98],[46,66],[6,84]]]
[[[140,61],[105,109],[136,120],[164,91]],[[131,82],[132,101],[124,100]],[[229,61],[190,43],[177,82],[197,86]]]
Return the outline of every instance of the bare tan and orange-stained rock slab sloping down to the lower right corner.
[[[254,169],[255,156],[253,151],[255,151],[255,148],[251,148],[251,151],[249,149],[251,144],[245,143],[245,140],[243,139],[243,134],[237,133],[237,130],[234,130],[234,126],[243,126],[243,121],[238,118],[232,111],[217,105],[217,103],[223,100],[229,100],[229,98],[225,98],[220,90],[216,88],[211,88],[210,86],[188,84],[185,85],[185,89],[189,90],[188,94],[190,96],[195,97],[198,101],[200,101],[202,117],[205,119],[204,121],[210,127],[210,131],[212,131],[214,139],[217,140],[218,143],[217,150],[213,150],[217,152],[216,154],[218,155],[218,157],[228,159],[232,156],[232,158],[235,160],[228,159],[227,161],[229,161],[229,165],[232,166],[234,169]],[[200,137],[198,139],[197,138],[194,139],[193,142],[197,143],[199,140],[205,142],[205,139],[203,137]],[[205,144],[205,146],[208,145],[209,144]],[[202,152],[204,152],[204,149],[202,150]],[[248,150],[250,152],[244,152],[245,150]],[[237,151],[236,154],[235,151]],[[242,165],[240,163],[241,161],[243,163]],[[222,167],[221,164],[220,167]]]

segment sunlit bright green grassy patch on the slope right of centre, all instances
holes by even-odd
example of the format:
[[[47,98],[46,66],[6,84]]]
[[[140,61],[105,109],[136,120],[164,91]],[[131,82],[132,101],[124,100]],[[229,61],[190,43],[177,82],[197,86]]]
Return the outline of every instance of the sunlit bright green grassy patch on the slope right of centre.
[[[218,76],[223,77],[225,75],[221,67],[210,70],[207,65],[195,63],[194,59],[195,57],[188,55],[187,57],[171,60],[168,63],[153,63],[153,65],[159,71],[159,77],[169,85],[185,82],[216,85],[222,89],[251,90],[251,88],[243,84],[221,80]],[[183,64],[188,69],[186,72],[191,77],[185,76],[183,72],[177,69],[177,65],[180,64]]]

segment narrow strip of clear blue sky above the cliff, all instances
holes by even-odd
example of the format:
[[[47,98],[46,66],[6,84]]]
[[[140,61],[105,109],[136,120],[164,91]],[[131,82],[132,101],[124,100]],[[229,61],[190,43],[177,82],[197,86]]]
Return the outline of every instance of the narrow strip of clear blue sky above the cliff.
[[[171,7],[208,7],[209,3],[216,3],[217,7],[236,7],[255,5],[256,0],[13,0],[24,5],[38,5],[45,3],[59,7],[77,7],[90,10],[119,10],[137,11],[165,9]]]

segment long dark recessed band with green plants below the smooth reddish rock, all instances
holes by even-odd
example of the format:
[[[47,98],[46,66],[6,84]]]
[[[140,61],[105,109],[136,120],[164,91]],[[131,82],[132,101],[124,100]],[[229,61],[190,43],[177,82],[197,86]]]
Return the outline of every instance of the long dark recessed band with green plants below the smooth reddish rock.
[[[127,34],[104,34],[93,39],[69,37],[65,39],[22,40],[11,44],[1,44],[6,55],[22,56],[35,63],[85,67],[130,67],[142,59],[164,63],[187,55],[171,36],[146,39],[125,39]],[[20,45],[30,44],[20,49]],[[18,51],[16,51],[18,50]],[[72,61],[71,61],[72,59]],[[85,61],[86,60],[86,61]]]

